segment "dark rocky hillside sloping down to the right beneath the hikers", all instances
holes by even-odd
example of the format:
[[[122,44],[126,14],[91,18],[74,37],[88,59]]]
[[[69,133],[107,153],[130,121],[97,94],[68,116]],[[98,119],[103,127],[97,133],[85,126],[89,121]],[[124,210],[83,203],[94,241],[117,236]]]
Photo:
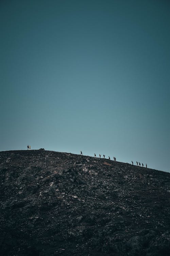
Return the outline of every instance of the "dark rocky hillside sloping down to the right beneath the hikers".
[[[0,152],[2,256],[168,256],[170,173],[53,151]]]

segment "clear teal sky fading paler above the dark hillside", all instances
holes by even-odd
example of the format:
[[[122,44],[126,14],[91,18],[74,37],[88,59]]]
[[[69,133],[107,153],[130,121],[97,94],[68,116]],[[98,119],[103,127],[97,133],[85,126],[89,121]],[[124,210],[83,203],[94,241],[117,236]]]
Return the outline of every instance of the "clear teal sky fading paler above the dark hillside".
[[[170,2],[0,2],[0,151],[170,171]]]

